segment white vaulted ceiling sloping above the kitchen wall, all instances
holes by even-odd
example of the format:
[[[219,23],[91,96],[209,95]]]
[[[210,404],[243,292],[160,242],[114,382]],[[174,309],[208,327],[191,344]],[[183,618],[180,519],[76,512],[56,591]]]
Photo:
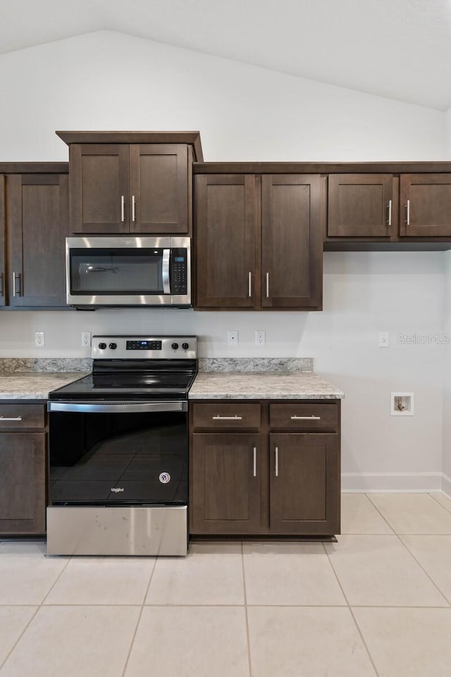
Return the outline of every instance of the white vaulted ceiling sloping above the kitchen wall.
[[[451,107],[451,0],[0,0],[0,53],[97,30]]]

